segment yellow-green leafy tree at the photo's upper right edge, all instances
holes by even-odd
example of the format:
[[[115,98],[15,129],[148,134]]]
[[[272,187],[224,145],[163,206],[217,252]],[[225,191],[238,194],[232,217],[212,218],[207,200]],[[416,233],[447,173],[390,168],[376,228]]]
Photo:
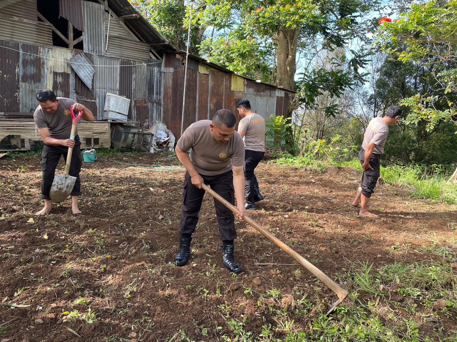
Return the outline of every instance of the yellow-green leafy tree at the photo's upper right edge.
[[[407,122],[425,121],[431,131],[440,121],[457,119],[457,1],[430,0],[412,3],[410,10],[392,21],[379,21],[378,43],[384,52],[404,63],[418,63],[430,74],[426,92],[404,98],[409,107]]]

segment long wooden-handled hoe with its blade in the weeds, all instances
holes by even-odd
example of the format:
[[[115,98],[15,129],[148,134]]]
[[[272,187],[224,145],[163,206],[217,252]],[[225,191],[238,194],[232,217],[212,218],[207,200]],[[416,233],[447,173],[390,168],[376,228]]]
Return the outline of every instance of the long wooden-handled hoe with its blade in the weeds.
[[[219,202],[221,202],[224,206],[228,207],[232,212],[239,215],[239,210],[223,199],[217,192],[212,190],[206,184],[202,183],[202,188],[206,190],[211,196],[216,198]],[[325,285],[332,289],[336,295],[338,295],[338,300],[330,306],[329,311],[327,311],[327,315],[335,310],[335,307],[340,305],[340,303],[346,298],[348,292],[343,289],[340,285],[336,284],[335,281],[331,280],[327,275],[325,275],[320,269],[316,266],[311,264],[307,259],[303,258],[300,254],[295,252],[292,248],[284,244],[280,239],[276,238],[273,234],[266,231],[264,228],[260,227],[257,223],[255,223],[248,215],[244,215],[243,220],[249,223],[252,227],[257,229],[260,233],[262,233],[266,238],[270,241],[274,242],[279,248],[281,248],[284,252],[289,254],[293,259],[297,260],[300,264],[303,265],[308,271],[314,274],[320,281],[322,281]]]

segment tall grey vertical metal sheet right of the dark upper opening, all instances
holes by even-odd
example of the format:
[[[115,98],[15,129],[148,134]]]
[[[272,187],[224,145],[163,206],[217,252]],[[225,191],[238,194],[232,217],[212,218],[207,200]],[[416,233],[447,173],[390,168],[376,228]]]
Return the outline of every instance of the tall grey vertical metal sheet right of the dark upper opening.
[[[84,52],[103,55],[106,48],[105,6],[84,0],[81,1],[81,5],[84,23]]]

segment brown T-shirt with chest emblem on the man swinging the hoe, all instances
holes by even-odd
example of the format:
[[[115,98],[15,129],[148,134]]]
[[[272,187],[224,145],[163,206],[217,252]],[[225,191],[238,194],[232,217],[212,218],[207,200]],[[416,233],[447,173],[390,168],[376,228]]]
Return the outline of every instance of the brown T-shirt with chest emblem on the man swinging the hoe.
[[[221,175],[233,166],[244,165],[243,139],[235,132],[225,143],[214,139],[209,127],[211,120],[191,124],[179,138],[177,145],[183,151],[191,149],[195,171],[204,176]]]

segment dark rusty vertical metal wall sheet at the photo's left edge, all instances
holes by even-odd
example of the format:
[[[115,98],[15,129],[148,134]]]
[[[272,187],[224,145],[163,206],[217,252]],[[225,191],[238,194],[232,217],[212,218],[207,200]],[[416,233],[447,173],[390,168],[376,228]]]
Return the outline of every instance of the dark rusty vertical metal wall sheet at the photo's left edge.
[[[0,112],[19,112],[19,44],[0,44]]]

